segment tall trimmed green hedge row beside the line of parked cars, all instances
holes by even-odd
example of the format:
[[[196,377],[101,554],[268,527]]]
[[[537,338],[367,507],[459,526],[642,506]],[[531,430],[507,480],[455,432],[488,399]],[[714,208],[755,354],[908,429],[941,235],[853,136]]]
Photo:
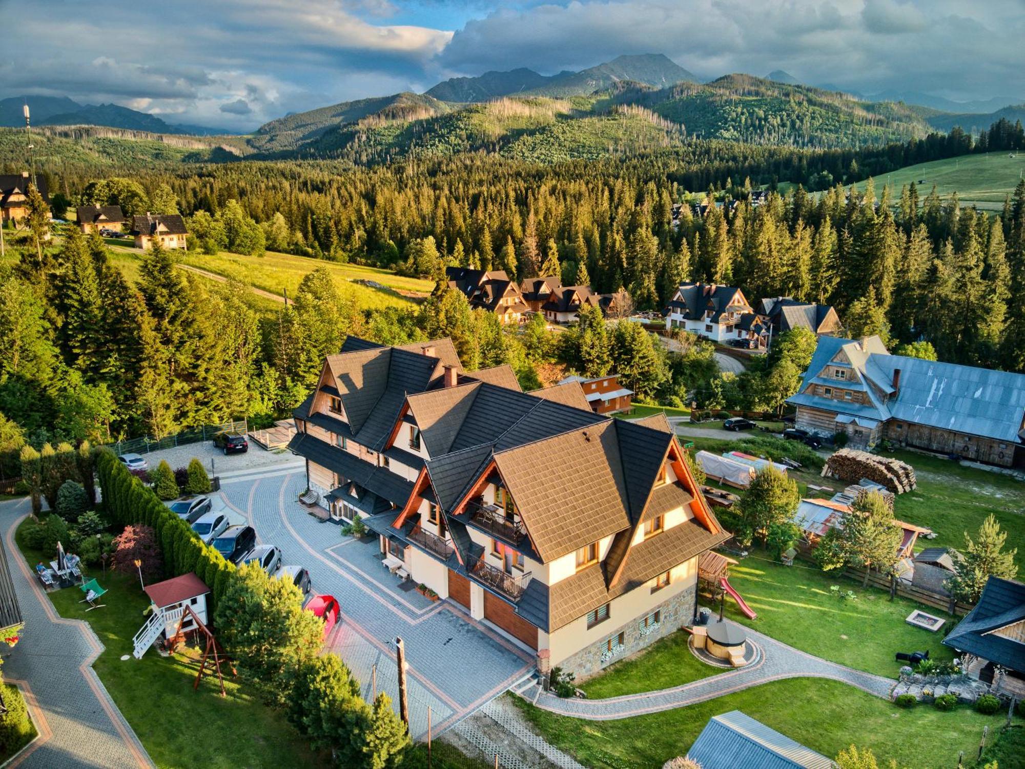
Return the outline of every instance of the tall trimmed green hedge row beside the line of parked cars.
[[[157,544],[164,555],[164,571],[168,577],[190,571],[206,582],[213,594],[213,606],[234,578],[235,566],[216,550],[204,543],[189,524],[172,513],[152,489],[133,476],[110,449],[100,449],[96,456],[96,473],[102,489],[104,505],[118,526],[141,524],[151,526]],[[210,614],[213,613],[210,607]]]

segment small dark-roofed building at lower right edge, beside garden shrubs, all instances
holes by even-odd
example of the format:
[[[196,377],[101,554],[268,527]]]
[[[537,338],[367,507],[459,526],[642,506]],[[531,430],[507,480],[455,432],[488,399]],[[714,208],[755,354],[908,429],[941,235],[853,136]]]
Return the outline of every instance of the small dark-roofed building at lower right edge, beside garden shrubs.
[[[979,603],[943,644],[969,655],[969,675],[997,693],[1025,696],[1025,584],[990,575]]]

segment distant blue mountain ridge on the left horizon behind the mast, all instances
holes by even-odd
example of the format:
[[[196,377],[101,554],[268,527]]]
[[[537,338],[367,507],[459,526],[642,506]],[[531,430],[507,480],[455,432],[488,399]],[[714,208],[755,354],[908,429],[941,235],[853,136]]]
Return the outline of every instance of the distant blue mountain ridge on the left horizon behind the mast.
[[[81,105],[68,96],[11,96],[0,99],[0,126],[22,127],[29,106],[33,125],[102,125],[151,133],[212,135],[223,131],[199,125],[168,123],[156,115],[120,105]]]

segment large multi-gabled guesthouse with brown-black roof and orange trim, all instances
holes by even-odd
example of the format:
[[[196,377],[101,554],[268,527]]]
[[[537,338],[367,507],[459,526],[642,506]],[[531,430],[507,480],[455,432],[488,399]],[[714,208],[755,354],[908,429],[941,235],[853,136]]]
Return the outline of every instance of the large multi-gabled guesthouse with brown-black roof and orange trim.
[[[463,371],[449,339],[350,337],[289,447],[395,573],[535,651],[542,673],[589,675],[690,622],[698,558],[730,535],[664,415],[611,419],[578,382],[524,393],[509,373]]]

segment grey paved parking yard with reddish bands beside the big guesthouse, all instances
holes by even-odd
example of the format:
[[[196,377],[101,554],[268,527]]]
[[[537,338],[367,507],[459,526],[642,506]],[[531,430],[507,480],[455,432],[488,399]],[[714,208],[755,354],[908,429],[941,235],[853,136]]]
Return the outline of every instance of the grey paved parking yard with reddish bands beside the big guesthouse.
[[[363,685],[398,703],[395,638],[402,637],[409,665],[410,726],[414,736],[435,734],[523,680],[533,657],[449,601],[430,602],[399,579],[376,556],[376,540],[355,541],[338,526],[321,523],[296,498],[305,486],[302,473],[247,475],[222,482],[220,497],[256,529],[259,540],[278,545],[284,563],[304,566],[314,591],[341,605],[341,621],[328,639]],[[398,706],[398,704],[397,704]]]

